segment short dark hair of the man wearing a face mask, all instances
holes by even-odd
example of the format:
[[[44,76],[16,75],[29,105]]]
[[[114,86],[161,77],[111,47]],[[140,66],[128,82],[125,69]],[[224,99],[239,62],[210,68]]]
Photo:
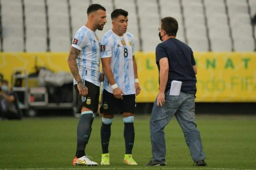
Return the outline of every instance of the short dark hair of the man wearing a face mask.
[[[168,36],[176,36],[178,31],[178,22],[173,17],[165,17],[161,19],[161,28],[165,30]]]

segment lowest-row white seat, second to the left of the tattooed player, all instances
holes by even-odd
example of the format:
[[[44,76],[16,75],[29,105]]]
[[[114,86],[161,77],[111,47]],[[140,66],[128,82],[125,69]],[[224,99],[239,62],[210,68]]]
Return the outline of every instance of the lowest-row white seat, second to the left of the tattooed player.
[[[46,52],[47,40],[46,37],[30,36],[26,39],[27,52]]]

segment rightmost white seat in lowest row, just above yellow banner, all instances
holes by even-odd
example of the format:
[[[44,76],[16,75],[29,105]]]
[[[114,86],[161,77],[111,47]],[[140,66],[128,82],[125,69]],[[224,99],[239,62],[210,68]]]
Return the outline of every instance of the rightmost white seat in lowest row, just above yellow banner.
[[[253,37],[235,37],[234,40],[234,51],[254,51],[255,42]]]

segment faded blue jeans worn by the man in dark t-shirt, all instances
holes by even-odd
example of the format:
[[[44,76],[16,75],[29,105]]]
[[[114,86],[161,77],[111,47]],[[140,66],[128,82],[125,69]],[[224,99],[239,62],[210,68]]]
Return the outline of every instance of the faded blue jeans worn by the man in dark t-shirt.
[[[178,120],[194,162],[205,160],[200,132],[195,124],[195,97],[192,93],[181,92],[179,96],[165,93],[166,103],[161,107],[154,102],[150,119],[150,137],[153,161],[165,162],[166,145],[164,128],[173,115]]]

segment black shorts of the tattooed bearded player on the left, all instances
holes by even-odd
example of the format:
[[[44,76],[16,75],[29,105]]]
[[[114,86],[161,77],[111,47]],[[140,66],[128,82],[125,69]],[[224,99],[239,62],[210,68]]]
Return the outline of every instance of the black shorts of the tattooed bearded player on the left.
[[[90,110],[93,110],[93,112],[97,112],[98,105],[99,105],[99,86],[96,86],[95,84],[88,82],[84,79],[82,79],[82,82],[88,88],[88,94],[87,96],[80,96],[77,88],[77,84],[74,85],[75,94],[77,95],[77,101],[78,101],[77,113],[81,113],[82,106]]]

